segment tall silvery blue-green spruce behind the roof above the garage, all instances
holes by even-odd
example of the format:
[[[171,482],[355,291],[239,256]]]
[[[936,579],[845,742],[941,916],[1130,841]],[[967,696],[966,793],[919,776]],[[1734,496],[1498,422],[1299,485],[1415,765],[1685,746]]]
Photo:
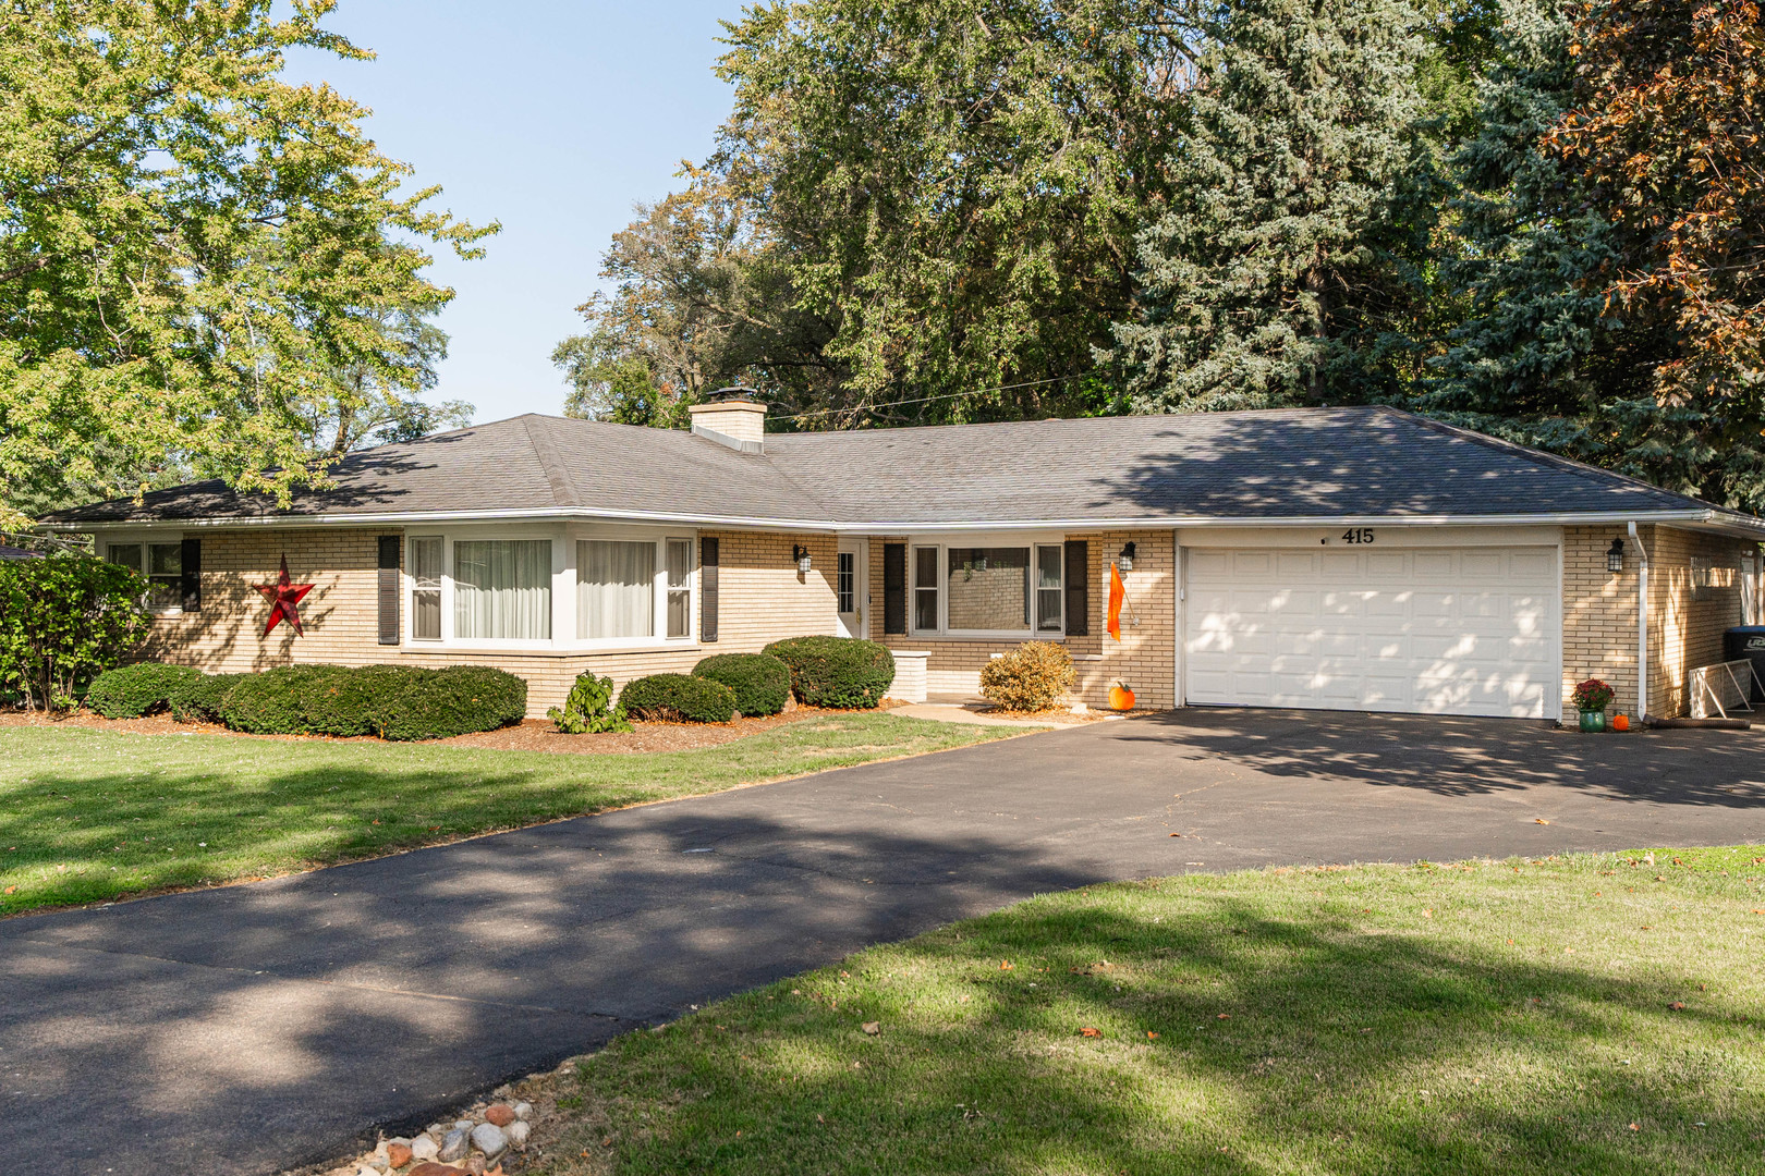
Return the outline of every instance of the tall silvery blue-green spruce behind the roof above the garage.
[[[1407,324],[1400,199],[1424,153],[1401,0],[1244,0],[1200,62],[1172,205],[1142,236],[1140,316],[1115,328],[1135,411],[1393,395]]]

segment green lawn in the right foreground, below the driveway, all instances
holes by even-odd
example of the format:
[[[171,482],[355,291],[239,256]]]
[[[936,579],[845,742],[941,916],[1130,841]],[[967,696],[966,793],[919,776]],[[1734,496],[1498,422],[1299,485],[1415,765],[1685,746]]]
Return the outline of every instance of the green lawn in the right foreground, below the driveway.
[[[540,1171],[1761,1172],[1765,846],[1656,862],[1040,897],[618,1038]]]

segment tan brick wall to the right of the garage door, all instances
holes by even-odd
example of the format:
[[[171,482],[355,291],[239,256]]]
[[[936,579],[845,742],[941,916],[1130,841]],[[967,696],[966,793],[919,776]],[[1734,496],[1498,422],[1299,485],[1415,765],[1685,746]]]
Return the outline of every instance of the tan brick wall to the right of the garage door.
[[[1649,548],[1649,712],[1689,711],[1686,681],[1693,668],[1723,659],[1723,631],[1740,624],[1740,557],[1756,550],[1744,540],[1640,527]],[[1617,689],[1615,711],[1636,711],[1636,578],[1641,561],[1626,527],[1564,527],[1562,547],[1562,705],[1573,714],[1574,684],[1604,679]],[[1624,540],[1624,571],[1606,571],[1606,548]],[[1691,587],[1693,555],[1717,569],[1717,587]]]

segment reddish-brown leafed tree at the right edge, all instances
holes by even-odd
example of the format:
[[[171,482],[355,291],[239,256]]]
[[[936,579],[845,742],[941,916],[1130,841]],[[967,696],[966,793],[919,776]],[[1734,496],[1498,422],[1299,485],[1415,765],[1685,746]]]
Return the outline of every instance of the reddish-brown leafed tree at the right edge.
[[[1765,506],[1765,21],[1756,0],[1578,9],[1576,109],[1548,150],[1604,219],[1615,314],[1659,346],[1610,398],[1624,464]]]

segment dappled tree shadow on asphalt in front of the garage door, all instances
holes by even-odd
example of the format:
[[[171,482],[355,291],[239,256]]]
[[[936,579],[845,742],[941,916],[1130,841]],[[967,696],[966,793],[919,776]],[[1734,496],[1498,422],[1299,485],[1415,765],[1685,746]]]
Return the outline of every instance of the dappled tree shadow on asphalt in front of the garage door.
[[[1112,725],[1124,742],[1446,797],[1558,786],[1617,800],[1765,806],[1765,732],[1580,735],[1527,719],[1184,707]]]

